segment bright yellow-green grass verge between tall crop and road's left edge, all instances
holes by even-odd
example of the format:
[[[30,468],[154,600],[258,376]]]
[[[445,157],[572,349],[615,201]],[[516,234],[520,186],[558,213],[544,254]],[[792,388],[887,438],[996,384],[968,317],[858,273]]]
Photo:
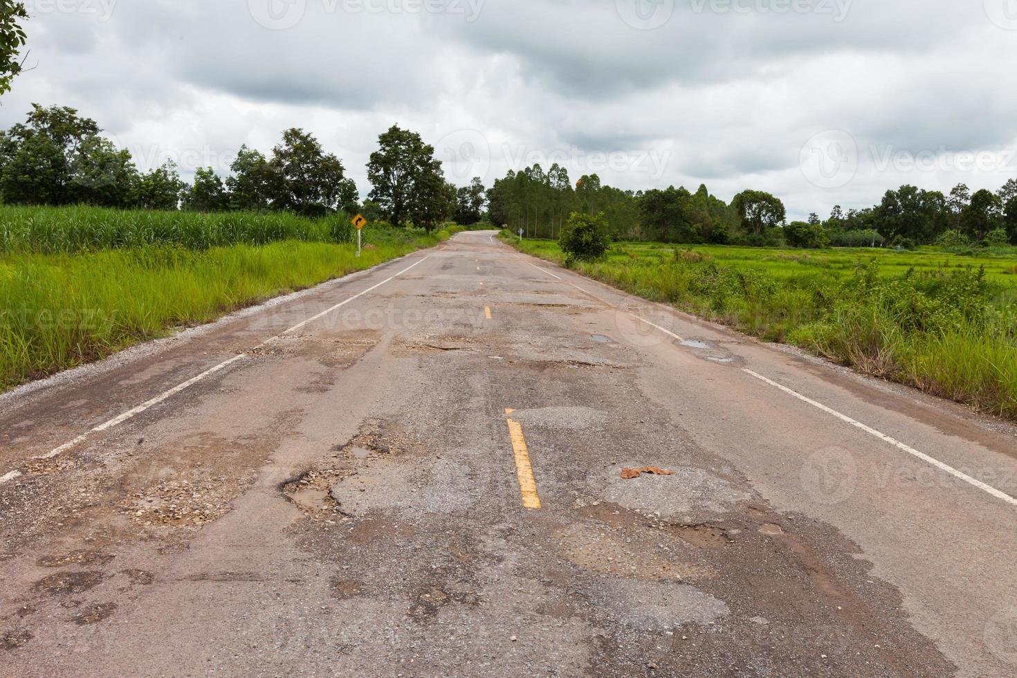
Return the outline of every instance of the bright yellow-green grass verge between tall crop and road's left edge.
[[[0,390],[430,247],[454,230],[366,231],[360,258],[354,245],[292,240],[0,254]]]

